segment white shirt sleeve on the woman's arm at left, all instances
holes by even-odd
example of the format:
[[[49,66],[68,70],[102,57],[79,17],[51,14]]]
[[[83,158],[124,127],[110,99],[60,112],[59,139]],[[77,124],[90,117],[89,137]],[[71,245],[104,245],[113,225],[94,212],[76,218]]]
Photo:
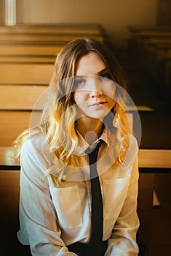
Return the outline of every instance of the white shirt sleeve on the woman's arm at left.
[[[27,140],[20,156],[20,230],[18,240],[29,245],[33,256],[69,256],[60,238],[57,215],[44,177],[45,164],[39,146]]]

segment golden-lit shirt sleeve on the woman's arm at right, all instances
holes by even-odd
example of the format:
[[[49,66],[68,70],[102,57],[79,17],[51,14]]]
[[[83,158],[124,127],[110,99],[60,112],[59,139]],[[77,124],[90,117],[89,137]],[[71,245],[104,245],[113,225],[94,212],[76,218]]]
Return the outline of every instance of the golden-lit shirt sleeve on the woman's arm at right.
[[[138,156],[136,156],[132,165],[127,197],[114,225],[111,238],[108,239],[106,256],[138,255],[139,249],[136,243],[136,234],[139,228],[137,214],[138,176]]]

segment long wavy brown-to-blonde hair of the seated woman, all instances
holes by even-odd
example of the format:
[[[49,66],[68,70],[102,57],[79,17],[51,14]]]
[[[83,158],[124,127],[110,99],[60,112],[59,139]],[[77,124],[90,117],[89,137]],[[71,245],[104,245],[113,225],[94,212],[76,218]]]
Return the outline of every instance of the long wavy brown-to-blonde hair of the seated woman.
[[[109,121],[108,127],[119,127],[121,139],[127,135],[130,127],[124,109],[124,91],[127,91],[127,83],[122,67],[103,43],[95,39],[76,39],[65,45],[58,53],[40,126],[27,129],[17,137],[13,143],[16,157],[20,157],[20,150],[25,140],[43,131],[50,150],[61,162],[65,165],[80,166],[81,158],[75,154],[79,137],[75,129],[77,110],[72,93],[72,78],[76,75],[79,59],[92,51],[98,53],[106,65],[111,80],[124,89],[122,94],[117,94],[116,90],[117,100],[111,110],[114,118]],[[124,151],[127,146],[127,143],[123,144]],[[123,161],[122,152],[119,152],[118,160],[120,163]]]

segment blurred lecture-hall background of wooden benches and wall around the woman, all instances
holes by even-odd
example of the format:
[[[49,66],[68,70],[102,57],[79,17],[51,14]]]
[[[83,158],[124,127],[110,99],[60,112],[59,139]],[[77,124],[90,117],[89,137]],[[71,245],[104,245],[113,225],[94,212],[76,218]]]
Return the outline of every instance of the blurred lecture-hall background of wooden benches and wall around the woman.
[[[0,219],[3,255],[17,243],[20,164],[12,141],[29,127],[65,43],[94,37],[114,52],[142,126],[140,256],[169,256],[171,237],[171,0],[0,0]],[[134,109],[130,110],[134,118]],[[39,118],[39,110],[34,117]],[[134,119],[133,119],[134,120]],[[135,131],[138,132],[138,131]]]

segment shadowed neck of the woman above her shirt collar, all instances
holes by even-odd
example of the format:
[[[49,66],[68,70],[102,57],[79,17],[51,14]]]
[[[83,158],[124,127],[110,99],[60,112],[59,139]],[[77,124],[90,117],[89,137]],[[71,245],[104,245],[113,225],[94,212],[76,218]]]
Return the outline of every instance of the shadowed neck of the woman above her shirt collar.
[[[97,118],[83,116],[76,120],[76,129],[91,145],[103,132],[103,122]]]

